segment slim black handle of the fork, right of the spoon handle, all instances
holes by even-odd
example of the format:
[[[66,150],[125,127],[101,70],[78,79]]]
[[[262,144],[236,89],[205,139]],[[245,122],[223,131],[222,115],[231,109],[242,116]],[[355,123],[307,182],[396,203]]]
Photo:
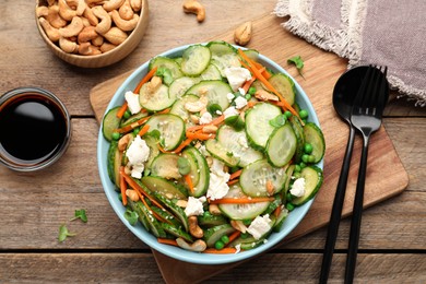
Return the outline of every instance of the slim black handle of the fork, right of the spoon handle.
[[[363,152],[360,156],[358,180],[356,181],[355,201],[351,221],[350,244],[344,282],[345,284],[352,284],[354,282],[355,275],[356,256],[359,244],[360,220],[363,214],[365,177],[367,171],[369,135],[363,135]]]

